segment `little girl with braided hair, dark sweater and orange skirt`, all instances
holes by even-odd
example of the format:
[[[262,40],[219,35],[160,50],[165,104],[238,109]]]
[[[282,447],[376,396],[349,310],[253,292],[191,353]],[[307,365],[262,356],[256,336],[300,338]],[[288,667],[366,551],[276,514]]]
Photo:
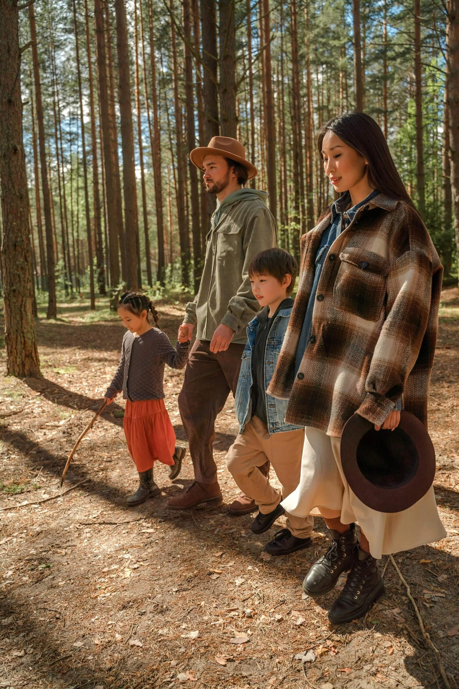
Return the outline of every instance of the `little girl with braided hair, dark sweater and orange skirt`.
[[[134,460],[139,487],[127,498],[129,506],[155,497],[160,489],[153,481],[153,463],[169,464],[169,477],[180,472],[184,447],[175,447],[175,433],[166,407],[162,378],[164,364],[183,369],[189,353],[188,330],[180,327],[177,351],[158,327],[149,323],[148,314],[158,326],[158,312],[145,294],[125,292],[118,303],[118,316],[127,328],[122,338],[121,358],[105,400],[113,402],[122,391],[126,401],[123,426],[127,446]]]

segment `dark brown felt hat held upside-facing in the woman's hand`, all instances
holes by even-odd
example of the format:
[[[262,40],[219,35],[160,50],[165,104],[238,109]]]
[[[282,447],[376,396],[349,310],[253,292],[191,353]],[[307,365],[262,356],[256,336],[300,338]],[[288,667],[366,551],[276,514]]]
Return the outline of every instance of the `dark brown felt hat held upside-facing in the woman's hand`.
[[[354,414],[341,435],[341,464],[350,489],[378,512],[401,512],[418,502],[434,482],[435,450],[427,429],[401,411],[394,431],[375,431]]]

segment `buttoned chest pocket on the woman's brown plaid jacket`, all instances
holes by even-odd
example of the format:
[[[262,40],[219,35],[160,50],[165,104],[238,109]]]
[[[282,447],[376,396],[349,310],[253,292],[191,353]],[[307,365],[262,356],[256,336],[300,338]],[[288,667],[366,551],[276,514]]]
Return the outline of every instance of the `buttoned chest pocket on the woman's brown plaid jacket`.
[[[365,320],[381,318],[386,294],[389,262],[358,247],[339,254],[341,265],[333,287],[333,305]]]

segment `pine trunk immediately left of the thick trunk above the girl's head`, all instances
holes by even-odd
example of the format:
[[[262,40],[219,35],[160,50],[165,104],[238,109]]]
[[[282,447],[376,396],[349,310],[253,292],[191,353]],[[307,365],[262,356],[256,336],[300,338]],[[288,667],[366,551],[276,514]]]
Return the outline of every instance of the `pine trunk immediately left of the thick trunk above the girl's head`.
[[[113,157],[111,155],[107,56],[105,50],[105,30],[102,0],[94,0],[94,17],[96,19],[99,107],[104,152],[105,194],[107,196],[109,274],[111,289],[116,289],[120,282],[120,263],[118,258],[118,212],[116,207],[116,185],[114,181]]]

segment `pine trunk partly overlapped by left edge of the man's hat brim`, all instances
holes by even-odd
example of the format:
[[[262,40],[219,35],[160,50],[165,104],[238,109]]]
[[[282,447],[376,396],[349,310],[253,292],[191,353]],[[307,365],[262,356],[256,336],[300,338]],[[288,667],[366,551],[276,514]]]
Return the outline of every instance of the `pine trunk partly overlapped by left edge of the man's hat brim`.
[[[185,99],[186,99],[186,143],[188,150],[191,151],[196,145],[195,137],[195,113],[194,113],[194,93],[193,93],[193,56],[191,54],[191,0],[183,2],[183,30],[185,38]],[[200,208],[199,208],[199,189],[198,174],[196,168],[191,163],[188,156],[188,172],[190,179],[191,196],[191,237],[193,239],[193,277],[194,291],[198,292],[202,274],[202,252],[201,252],[201,228],[200,228]]]

